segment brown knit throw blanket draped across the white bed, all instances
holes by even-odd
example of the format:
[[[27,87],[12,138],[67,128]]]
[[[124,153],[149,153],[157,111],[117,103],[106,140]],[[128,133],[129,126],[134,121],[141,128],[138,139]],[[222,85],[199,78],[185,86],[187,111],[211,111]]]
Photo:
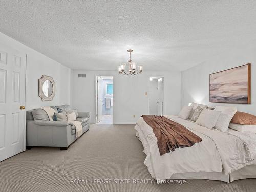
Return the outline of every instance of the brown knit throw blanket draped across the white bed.
[[[144,121],[150,125],[157,138],[160,155],[174,151],[176,148],[193,146],[202,141],[184,126],[164,116],[142,115]]]

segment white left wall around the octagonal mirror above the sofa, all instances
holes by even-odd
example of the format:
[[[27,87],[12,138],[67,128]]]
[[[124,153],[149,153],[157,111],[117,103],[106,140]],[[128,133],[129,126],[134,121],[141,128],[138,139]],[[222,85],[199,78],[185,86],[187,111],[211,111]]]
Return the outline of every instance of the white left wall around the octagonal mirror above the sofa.
[[[0,33],[0,44],[27,54],[26,110],[40,106],[70,104],[71,70],[69,68],[3,33]],[[38,79],[41,75],[53,77],[56,83],[56,95],[52,101],[42,102],[38,97]]]

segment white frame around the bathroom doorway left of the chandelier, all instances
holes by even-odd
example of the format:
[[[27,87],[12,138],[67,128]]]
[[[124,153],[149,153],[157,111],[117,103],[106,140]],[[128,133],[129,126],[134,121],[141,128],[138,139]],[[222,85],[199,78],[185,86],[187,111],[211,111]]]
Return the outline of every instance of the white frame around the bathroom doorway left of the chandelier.
[[[98,85],[97,85],[97,80],[98,77],[113,77],[113,112],[112,112],[112,124],[114,124],[114,107],[115,107],[115,78],[113,75],[95,75],[95,80],[94,80],[94,120],[93,123],[97,124],[97,111],[98,111],[98,101],[97,101],[97,95],[98,95]]]

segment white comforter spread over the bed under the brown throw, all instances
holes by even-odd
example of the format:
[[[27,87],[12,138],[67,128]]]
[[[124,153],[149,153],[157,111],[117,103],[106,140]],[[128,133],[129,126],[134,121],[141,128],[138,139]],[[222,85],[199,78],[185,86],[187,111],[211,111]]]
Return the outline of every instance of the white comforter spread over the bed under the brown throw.
[[[202,142],[192,147],[178,148],[160,156],[157,138],[152,128],[141,117],[135,126],[141,140],[146,159],[144,164],[154,179],[169,179],[175,173],[222,172],[231,173],[248,164],[253,164],[256,139],[252,134],[238,132],[224,133],[197,125],[194,122],[166,116],[185,126],[202,138]],[[255,136],[254,136],[255,137]]]

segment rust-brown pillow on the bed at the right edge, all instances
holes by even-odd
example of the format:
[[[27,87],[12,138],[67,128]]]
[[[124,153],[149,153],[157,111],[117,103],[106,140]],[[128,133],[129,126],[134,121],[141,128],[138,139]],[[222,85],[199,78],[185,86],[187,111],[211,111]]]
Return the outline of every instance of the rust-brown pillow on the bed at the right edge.
[[[238,111],[231,119],[231,123],[256,125],[256,116],[249,113]]]

